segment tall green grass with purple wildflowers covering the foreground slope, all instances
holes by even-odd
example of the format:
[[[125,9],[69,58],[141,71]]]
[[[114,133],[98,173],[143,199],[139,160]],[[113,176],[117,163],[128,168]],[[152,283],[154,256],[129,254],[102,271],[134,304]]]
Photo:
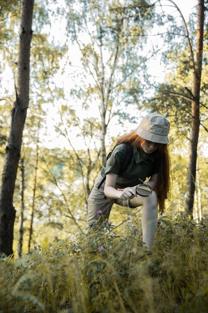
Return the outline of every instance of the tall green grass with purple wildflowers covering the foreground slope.
[[[208,218],[162,217],[149,250],[140,224],[131,218],[122,231],[79,232],[2,259],[0,313],[207,312]]]

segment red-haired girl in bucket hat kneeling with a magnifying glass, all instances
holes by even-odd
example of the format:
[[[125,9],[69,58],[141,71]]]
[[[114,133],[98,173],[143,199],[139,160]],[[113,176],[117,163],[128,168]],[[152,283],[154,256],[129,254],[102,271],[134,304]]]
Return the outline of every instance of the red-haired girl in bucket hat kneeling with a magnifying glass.
[[[157,203],[159,212],[163,213],[170,187],[170,158],[167,151],[169,129],[170,124],[165,116],[151,113],[143,118],[135,131],[119,137],[89,195],[88,227],[98,218],[99,222],[108,219],[114,203],[129,208],[142,205],[143,242],[144,246],[151,246],[156,231]],[[127,168],[121,170],[124,143],[133,146],[133,157]],[[99,186],[104,175],[106,180]],[[136,185],[147,178],[152,193],[148,197],[139,196]],[[97,213],[99,210],[102,211],[102,218]],[[87,229],[87,233],[90,229]]]

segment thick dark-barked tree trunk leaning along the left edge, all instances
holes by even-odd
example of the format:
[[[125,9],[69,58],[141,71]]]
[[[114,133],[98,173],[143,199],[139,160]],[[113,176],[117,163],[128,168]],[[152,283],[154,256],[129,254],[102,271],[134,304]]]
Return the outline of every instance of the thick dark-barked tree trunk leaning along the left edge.
[[[30,44],[34,0],[22,0],[19,32],[19,56],[16,101],[12,109],[10,135],[0,191],[0,253],[13,253],[13,227],[15,209],[13,193],[22,145],[22,132],[29,104]]]

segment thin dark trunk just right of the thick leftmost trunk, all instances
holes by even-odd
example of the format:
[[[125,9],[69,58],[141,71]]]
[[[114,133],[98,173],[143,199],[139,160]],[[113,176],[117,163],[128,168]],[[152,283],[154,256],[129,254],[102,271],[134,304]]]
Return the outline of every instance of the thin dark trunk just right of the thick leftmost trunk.
[[[21,176],[22,176],[22,185],[21,185],[21,212],[20,212],[20,231],[19,231],[19,257],[22,256],[22,242],[23,242],[23,220],[24,220],[24,189],[25,189],[25,167],[24,167],[24,158],[21,158],[20,163]]]

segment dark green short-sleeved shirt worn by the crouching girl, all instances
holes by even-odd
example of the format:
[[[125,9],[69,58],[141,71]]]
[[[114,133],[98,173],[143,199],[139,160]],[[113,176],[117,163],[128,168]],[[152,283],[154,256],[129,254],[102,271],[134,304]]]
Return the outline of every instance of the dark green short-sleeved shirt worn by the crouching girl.
[[[116,146],[110,158],[106,162],[105,174],[112,172],[117,174],[116,185],[123,187],[133,187],[145,182],[147,177],[151,177],[158,172],[159,156],[149,154],[143,160],[139,150],[133,147],[133,157],[125,170],[121,170],[121,161],[124,153],[124,144]]]

